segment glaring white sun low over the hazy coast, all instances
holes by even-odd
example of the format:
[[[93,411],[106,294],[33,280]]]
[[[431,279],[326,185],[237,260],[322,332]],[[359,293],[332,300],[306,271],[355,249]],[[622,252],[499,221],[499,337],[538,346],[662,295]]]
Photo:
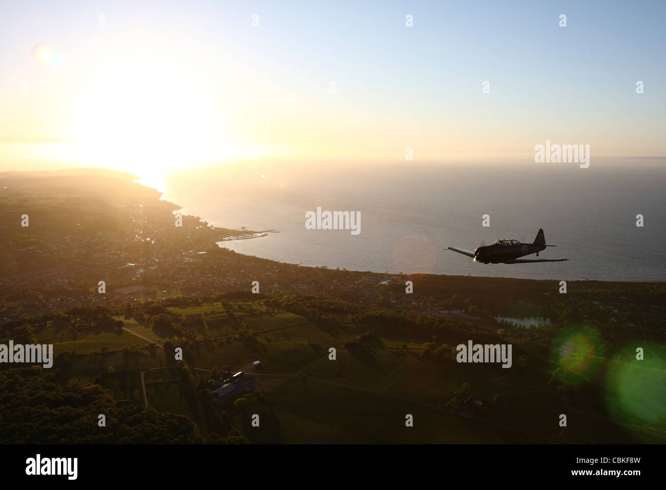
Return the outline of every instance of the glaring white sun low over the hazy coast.
[[[186,65],[159,55],[122,57],[82,85],[69,133],[85,143],[91,162],[158,183],[168,171],[232,157],[227,115]]]

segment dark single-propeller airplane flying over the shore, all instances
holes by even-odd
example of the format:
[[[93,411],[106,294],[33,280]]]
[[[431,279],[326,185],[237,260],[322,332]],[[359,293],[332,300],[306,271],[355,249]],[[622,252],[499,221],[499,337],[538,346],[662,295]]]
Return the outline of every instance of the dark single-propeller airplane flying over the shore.
[[[492,245],[484,245],[478,247],[474,252],[468,250],[457,249],[456,247],[448,247],[448,250],[462,253],[468,257],[474,257],[474,262],[483,264],[525,264],[530,262],[562,262],[569,259],[518,259],[525,255],[536,253],[539,257],[539,252],[545,250],[545,247],[555,247],[555,245],[546,245],[545,237],[543,237],[543,228],[539,229],[533,243],[521,243],[516,239],[498,239]],[[447,250],[445,249],[445,250]]]

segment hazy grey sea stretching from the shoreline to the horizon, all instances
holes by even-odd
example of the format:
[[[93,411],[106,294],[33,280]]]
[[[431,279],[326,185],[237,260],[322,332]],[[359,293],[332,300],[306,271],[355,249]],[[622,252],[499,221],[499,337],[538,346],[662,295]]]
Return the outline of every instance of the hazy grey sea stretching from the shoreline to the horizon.
[[[416,164],[251,161],[166,177],[164,198],[212,225],[264,231],[225,241],[238,253],[354,271],[553,280],[666,280],[666,161]],[[360,233],[306,229],[306,213],[360,212]],[[482,225],[490,216],[490,226]],[[643,227],[637,227],[643,215]],[[531,243],[543,259],[480,264],[474,251],[498,238]],[[534,258],[533,255],[528,258]]]

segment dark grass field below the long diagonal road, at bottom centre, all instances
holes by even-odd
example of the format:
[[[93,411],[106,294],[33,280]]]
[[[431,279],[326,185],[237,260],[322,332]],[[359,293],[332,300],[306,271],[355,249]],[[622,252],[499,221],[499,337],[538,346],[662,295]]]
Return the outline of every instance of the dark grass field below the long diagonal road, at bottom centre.
[[[251,427],[251,416],[260,417]],[[414,427],[406,427],[406,415]],[[233,419],[252,443],[529,443],[531,437],[375,393],[292,379]]]

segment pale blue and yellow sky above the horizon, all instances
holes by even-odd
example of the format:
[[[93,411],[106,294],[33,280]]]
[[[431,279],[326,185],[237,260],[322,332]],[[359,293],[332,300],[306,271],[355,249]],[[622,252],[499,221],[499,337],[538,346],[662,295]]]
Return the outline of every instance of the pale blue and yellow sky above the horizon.
[[[408,148],[499,161],[546,140],[661,157],[665,13],[663,1],[4,0],[0,171],[400,161]]]

